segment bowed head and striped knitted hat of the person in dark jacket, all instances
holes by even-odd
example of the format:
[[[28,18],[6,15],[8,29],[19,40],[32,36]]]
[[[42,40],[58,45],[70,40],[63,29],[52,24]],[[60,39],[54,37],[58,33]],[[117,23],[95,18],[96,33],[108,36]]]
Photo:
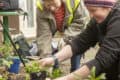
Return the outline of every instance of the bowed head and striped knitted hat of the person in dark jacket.
[[[98,23],[102,22],[112,7],[115,5],[116,0],[84,0],[90,16],[97,20]]]

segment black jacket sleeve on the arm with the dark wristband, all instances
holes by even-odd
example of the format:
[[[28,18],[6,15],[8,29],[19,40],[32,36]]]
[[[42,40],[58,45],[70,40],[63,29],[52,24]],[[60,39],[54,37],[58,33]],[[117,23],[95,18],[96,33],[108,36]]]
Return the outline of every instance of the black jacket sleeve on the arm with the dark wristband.
[[[92,19],[87,25],[87,28],[82,33],[74,37],[74,39],[69,43],[72,47],[73,54],[84,53],[87,49],[96,44],[97,30],[93,25],[95,26],[95,22]]]

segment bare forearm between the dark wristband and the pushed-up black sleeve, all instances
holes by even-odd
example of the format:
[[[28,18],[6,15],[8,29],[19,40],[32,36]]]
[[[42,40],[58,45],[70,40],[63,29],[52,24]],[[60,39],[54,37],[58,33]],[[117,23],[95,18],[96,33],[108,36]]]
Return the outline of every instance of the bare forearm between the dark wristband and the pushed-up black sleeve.
[[[62,50],[55,54],[59,62],[72,57],[72,55],[73,53],[70,45],[66,45],[65,47],[62,48]]]

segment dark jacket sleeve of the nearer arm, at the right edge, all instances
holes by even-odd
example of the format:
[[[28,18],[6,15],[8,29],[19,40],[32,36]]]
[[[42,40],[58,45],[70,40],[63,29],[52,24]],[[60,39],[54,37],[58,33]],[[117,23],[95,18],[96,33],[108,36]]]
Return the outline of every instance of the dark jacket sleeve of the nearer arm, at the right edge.
[[[103,43],[92,61],[87,63],[91,69],[96,67],[96,74],[100,74],[105,70],[109,70],[114,65],[120,56],[120,17],[113,19],[107,28],[106,36]],[[118,64],[118,63],[117,63]],[[117,66],[117,65],[116,65]],[[112,69],[111,69],[112,70]]]

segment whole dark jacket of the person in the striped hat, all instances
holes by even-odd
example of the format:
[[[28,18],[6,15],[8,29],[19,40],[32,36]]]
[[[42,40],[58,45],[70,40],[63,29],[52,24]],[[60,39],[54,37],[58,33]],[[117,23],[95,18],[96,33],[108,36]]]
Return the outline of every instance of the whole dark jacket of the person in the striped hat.
[[[100,49],[95,59],[86,65],[90,69],[95,66],[96,75],[106,73],[107,80],[120,80],[120,3],[114,6],[102,23],[91,19],[86,30],[76,36],[70,45],[76,54],[84,53],[96,43],[100,44]]]

